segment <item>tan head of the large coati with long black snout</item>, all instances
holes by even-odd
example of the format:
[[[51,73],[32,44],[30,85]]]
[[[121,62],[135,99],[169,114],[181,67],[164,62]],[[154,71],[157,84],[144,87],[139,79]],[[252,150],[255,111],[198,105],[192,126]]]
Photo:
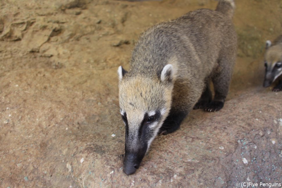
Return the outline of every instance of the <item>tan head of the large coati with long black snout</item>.
[[[168,64],[155,76],[134,75],[120,66],[118,75],[119,107],[125,124],[124,172],[133,174],[171,108],[174,71]]]

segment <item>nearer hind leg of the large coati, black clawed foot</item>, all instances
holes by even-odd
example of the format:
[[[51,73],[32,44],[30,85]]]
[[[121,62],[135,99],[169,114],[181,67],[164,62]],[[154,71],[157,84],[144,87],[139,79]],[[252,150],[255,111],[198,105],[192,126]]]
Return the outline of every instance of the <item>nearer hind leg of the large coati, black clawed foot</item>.
[[[215,97],[213,101],[206,105],[205,110],[208,112],[216,112],[222,109],[224,106],[224,101],[228,94],[233,69],[233,64],[227,62],[228,60],[232,61],[233,58],[224,58],[224,60],[219,61],[220,71],[216,71],[212,77]]]

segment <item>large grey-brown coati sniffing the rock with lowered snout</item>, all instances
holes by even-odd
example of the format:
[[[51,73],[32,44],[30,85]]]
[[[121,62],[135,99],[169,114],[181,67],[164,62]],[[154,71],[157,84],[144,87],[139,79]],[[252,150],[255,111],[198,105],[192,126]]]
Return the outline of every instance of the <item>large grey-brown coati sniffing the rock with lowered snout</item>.
[[[149,28],[133,49],[130,70],[118,68],[126,174],[135,173],[158,133],[178,129],[193,108],[223,107],[237,49],[234,6],[220,0],[215,11],[195,10]]]

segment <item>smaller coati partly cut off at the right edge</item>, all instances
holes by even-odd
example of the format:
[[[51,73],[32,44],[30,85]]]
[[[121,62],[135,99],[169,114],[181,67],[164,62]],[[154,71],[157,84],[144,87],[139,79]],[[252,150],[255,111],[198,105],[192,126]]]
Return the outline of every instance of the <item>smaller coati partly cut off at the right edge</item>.
[[[278,78],[279,83],[272,91],[282,91],[282,35],[274,40],[273,45],[270,40],[267,40],[265,48],[263,87],[269,87]]]

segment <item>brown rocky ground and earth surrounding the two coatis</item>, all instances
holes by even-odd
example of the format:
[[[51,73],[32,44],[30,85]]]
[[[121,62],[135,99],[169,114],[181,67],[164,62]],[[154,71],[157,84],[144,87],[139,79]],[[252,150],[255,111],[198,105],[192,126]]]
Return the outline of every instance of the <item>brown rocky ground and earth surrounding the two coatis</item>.
[[[194,110],[122,171],[117,68],[146,28],[213,0],[1,0],[0,187],[240,187],[282,183],[282,92],[263,88],[281,0],[237,0],[224,108]]]

